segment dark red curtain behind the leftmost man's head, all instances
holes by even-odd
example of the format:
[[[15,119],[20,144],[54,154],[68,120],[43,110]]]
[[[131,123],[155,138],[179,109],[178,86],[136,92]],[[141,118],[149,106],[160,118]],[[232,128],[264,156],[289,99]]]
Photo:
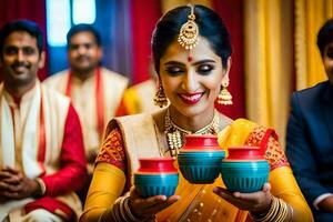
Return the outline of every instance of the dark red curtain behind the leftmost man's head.
[[[1,0],[0,27],[16,19],[29,19],[37,22],[47,34],[46,1],[44,0]],[[46,44],[47,46],[47,44]],[[39,72],[40,79],[47,77],[47,63]]]

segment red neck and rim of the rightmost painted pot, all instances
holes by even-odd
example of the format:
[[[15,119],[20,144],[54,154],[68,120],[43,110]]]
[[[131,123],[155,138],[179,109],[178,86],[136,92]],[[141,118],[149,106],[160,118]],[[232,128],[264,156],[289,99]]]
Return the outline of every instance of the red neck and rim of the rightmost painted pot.
[[[263,160],[264,151],[260,147],[240,145],[228,148],[225,160]]]

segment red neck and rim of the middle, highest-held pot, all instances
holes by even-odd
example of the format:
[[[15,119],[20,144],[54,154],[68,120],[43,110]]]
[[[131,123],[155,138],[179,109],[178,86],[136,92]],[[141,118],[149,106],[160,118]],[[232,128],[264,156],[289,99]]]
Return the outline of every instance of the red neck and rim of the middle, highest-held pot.
[[[182,150],[184,150],[184,151],[185,150],[204,151],[204,150],[221,150],[221,148],[218,143],[216,135],[189,134],[189,135],[185,135],[185,143],[184,143]]]

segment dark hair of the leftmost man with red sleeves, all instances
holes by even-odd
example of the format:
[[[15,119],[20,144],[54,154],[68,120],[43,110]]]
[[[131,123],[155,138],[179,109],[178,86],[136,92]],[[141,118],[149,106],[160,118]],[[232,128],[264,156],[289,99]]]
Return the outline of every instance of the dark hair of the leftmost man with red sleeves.
[[[6,23],[2,29],[0,30],[0,50],[1,50],[1,57],[2,57],[2,50],[6,38],[11,34],[12,32],[17,31],[24,31],[31,34],[37,39],[37,47],[39,53],[43,50],[44,44],[44,37],[43,32],[39,28],[39,26],[30,20],[14,20],[11,22]]]

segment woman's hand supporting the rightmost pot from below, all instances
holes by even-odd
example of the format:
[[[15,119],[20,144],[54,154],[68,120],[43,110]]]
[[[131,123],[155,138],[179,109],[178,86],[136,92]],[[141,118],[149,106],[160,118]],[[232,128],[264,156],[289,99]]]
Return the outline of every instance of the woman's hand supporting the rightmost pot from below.
[[[216,186],[214,193],[233,204],[234,206],[250,211],[251,213],[266,212],[272,202],[271,184],[265,183],[261,191],[253,193],[230,192],[226,189]]]

